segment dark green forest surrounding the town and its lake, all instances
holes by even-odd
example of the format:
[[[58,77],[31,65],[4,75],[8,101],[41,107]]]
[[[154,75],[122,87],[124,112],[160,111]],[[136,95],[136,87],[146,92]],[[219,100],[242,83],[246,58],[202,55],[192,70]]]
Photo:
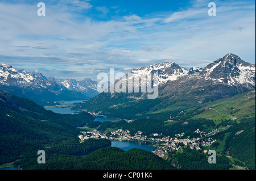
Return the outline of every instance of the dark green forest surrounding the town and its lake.
[[[222,121],[191,119],[191,115],[180,117],[183,119],[144,118],[132,123],[93,121],[94,117],[87,112],[61,115],[47,111],[31,100],[0,91],[0,164],[14,162],[22,169],[212,170],[230,169],[232,161],[232,164],[255,169],[255,117]],[[132,135],[138,131],[148,137],[159,133],[158,138],[175,137],[180,133],[184,133],[184,138],[197,138],[200,137],[200,133],[195,132],[197,129],[207,133],[217,128],[220,132],[212,136],[216,142],[208,148],[191,150],[181,144],[179,151],[170,151],[163,159],[145,150],[123,151],[109,147],[111,141],[106,139],[80,143],[77,136],[81,129],[77,127],[84,125],[107,135],[110,130],[127,129]],[[203,149],[216,150],[218,164],[209,164]],[[46,164],[37,163],[38,150],[46,151]]]

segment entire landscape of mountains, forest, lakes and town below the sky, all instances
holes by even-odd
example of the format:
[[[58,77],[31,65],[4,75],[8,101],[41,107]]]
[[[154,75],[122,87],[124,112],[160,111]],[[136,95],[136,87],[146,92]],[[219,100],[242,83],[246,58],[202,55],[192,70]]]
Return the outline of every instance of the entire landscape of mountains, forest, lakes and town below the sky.
[[[156,99],[147,92],[89,98],[77,88],[81,82],[1,64],[0,165],[255,169],[255,65],[229,53],[205,68],[164,62],[131,70],[134,77],[152,72],[159,73]],[[36,162],[38,150],[46,151],[46,164]],[[208,163],[208,150],[216,151],[218,164]]]

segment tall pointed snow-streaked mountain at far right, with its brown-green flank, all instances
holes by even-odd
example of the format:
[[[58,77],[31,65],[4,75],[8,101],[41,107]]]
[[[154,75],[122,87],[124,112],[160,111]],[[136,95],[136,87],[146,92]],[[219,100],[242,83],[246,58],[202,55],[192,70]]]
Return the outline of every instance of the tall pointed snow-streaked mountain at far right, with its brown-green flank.
[[[200,73],[164,85],[159,96],[183,99],[194,95],[191,100],[204,103],[252,89],[255,89],[255,64],[229,53],[207,65]]]

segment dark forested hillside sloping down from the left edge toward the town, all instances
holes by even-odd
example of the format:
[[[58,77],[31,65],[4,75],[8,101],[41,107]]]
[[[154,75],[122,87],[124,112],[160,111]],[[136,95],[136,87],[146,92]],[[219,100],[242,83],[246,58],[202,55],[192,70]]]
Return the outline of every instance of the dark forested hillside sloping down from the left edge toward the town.
[[[94,123],[83,112],[61,115],[45,110],[28,99],[0,91],[0,164],[13,162],[63,141],[79,142],[76,127]],[[93,124],[92,124],[93,125]]]

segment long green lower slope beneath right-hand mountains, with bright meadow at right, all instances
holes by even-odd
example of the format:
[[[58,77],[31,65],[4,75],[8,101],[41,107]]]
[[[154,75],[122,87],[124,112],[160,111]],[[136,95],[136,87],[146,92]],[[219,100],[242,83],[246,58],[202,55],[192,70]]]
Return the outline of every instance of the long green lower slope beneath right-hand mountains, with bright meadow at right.
[[[111,99],[112,100],[112,99]],[[191,115],[194,118],[206,118],[213,120],[232,119],[233,117],[251,117],[255,115],[255,90],[229,98],[218,99],[214,102],[199,103],[189,97],[184,100],[172,101],[171,98],[138,99],[125,103],[115,100],[115,106],[102,104],[105,107],[99,108],[95,102],[82,104],[82,108],[89,108],[89,111],[102,111],[104,115],[118,117],[120,119],[140,119],[150,117],[152,119],[170,119]],[[119,103],[119,104],[118,104]],[[79,107],[76,107],[79,108]],[[196,115],[197,114],[197,115]]]

